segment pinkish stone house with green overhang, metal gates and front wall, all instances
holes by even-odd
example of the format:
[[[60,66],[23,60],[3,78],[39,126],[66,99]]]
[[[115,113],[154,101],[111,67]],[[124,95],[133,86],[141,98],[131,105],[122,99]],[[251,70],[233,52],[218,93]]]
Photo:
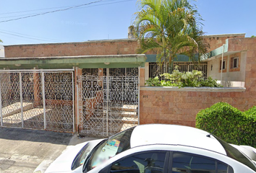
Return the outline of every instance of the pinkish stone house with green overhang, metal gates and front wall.
[[[228,86],[238,85],[233,81],[239,84],[245,81],[247,88],[248,56],[252,55],[248,55],[242,44],[252,40],[244,36],[205,36],[210,56],[204,60],[203,66],[207,68],[203,71],[213,79],[222,78]],[[221,73],[223,44],[227,47]],[[153,52],[136,54],[138,47],[136,39],[5,46],[5,58],[0,59],[1,126],[110,136],[143,123],[195,126],[196,112],[217,100],[223,101],[197,99],[202,96],[198,91],[203,89],[162,91],[144,86],[146,79],[157,75],[154,72],[156,56]],[[187,57],[177,58],[176,63],[182,65],[184,71],[192,70]],[[242,87],[229,91],[241,96],[247,94],[244,90]],[[210,96],[226,93],[225,89],[218,91],[211,90]],[[213,92],[215,94],[211,94]],[[225,95],[229,95],[227,100],[232,104],[230,93]],[[246,104],[239,105],[239,109],[256,102],[251,100]]]

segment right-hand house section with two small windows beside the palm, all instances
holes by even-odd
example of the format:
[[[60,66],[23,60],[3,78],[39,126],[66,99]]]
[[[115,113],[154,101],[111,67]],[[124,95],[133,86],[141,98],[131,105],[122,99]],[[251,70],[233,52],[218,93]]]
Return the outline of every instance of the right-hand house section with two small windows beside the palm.
[[[245,73],[248,70],[248,48],[243,44],[253,40],[255,39],[227,39],[226,43],[212,50],[210,56],[205,59],[208,62],[208,76],[222,81],[223,86],[244,86]],[[253,47],[249,47],[251,48]]]

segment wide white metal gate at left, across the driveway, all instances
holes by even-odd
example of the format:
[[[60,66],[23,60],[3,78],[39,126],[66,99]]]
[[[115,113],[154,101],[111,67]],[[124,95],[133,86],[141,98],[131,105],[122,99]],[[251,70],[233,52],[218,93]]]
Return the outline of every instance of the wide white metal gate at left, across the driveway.
[[[73,132],[73,91],[70,69],[0,71],[1,126]]]

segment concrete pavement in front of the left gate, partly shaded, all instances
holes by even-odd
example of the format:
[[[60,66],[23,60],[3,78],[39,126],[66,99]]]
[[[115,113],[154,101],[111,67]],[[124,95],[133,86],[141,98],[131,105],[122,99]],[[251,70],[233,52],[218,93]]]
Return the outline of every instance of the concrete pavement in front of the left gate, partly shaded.
[[[0,173],[33,172],[42,161],[54,161],[67,146],[93,139],[71,133],[0,128]]]

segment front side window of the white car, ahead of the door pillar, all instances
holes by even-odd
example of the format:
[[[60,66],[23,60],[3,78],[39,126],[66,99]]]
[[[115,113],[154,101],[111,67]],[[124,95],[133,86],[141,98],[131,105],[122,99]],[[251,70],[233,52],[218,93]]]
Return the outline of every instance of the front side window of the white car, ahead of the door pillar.
[[[153,151],[134,154],[112,164],[111,172],[119,173],[163,173],[166,152]]]

